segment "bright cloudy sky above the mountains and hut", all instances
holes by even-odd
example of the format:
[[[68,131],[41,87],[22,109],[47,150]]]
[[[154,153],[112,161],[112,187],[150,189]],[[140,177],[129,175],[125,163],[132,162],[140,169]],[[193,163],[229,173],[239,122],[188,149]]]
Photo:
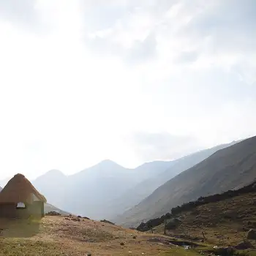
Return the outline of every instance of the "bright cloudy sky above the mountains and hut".
[[[0,179],[256,135],[255,12],[254,0],[0,0]]]

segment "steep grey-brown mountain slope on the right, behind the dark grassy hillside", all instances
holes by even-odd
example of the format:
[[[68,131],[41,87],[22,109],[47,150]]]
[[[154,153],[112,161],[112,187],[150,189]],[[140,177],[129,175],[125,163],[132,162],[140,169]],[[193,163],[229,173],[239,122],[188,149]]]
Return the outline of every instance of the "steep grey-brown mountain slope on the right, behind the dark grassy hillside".
[[[159,217],[197,197],[243,187],[255,177],[256,137],[253,137],[217,151],[170,179],[117,220],[123,225],[138,225],[142,219]]]

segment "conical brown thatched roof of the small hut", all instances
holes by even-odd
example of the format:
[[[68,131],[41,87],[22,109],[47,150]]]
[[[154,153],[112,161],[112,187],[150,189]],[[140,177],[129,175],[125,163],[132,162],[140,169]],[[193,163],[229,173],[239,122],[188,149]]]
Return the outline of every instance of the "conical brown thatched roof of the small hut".
[[[32,203],[33,197],[45,202],[46,198],[41,195],[31,182],[22,174],[18,173],[0,192],[0,203]]]

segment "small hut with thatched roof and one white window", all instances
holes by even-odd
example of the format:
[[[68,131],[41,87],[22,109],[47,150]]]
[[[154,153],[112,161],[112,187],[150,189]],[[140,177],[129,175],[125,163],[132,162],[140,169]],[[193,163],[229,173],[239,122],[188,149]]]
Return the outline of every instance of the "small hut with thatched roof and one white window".
[[[46,198],[18,173],[0,192],[0,218],[44,217],[44,203]]]

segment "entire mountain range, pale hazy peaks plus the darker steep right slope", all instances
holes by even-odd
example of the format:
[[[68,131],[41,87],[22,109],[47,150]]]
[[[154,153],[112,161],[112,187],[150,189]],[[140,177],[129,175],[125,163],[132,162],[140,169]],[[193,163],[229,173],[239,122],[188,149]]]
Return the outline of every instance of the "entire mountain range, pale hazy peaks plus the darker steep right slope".
[[[255,178],[255,143],[255,138],[233,141],[134,169],[104,160],[71,176],[50,170],[31,182],[53,206],[91,219],[135,226],[189,200]]]

